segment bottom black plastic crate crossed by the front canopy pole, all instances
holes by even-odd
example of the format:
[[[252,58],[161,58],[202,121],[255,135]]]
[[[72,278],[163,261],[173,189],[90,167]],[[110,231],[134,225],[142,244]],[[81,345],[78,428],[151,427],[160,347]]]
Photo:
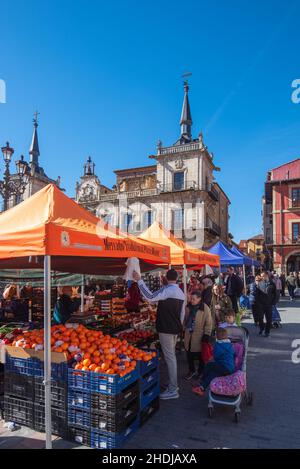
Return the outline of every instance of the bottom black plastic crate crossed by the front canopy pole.
[[[57,407],[51,407],[52,433],[66,438],[68,436],[67,411]],[[45,406],[34,404],[34,429],[37,432],[45,432]]]

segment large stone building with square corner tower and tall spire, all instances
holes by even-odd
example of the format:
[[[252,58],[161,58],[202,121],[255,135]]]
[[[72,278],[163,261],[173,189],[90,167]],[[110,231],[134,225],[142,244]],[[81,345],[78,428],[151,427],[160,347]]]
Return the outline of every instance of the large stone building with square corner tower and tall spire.
[[[116,170],[112,189],[100,184],[89,158],[76,200],[122,230],[138,234],[158,220],[190,244],[207,247],[218,239],[228,242],[230,201],[215,181],[220,169],[202,133],[192,138],[188,91],[185,82],[180,138],[173,145],[159,141],[149,166]]]

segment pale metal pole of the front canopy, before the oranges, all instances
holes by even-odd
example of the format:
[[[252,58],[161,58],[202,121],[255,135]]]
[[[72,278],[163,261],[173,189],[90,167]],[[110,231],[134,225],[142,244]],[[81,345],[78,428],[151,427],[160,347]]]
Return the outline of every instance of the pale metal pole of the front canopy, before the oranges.
[[[46,449],[52,449],[51,422],[51,257],[44,257],[44,386]]]

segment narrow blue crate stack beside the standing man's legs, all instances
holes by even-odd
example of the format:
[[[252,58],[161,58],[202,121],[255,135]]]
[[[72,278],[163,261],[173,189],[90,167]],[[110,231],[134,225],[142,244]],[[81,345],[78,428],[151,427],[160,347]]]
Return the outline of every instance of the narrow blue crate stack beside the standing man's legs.
[[[140,374],[140,425],[159,409],[159,358],[158,354],[147,362],[139,363]]]

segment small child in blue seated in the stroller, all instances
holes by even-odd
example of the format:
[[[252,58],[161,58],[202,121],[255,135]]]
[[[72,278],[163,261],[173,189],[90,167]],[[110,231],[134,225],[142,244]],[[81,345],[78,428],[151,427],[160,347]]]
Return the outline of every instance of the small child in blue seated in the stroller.
[[[211,381],[218,376],[230,375],[234,372],[234,349],[228,339],[227,330],[217,329],[217,340],[214,346],[214,360],[205,365],[200,385],[193,387],[193,392],[204,396]]]

